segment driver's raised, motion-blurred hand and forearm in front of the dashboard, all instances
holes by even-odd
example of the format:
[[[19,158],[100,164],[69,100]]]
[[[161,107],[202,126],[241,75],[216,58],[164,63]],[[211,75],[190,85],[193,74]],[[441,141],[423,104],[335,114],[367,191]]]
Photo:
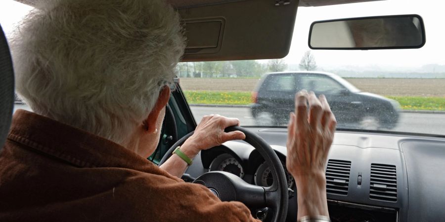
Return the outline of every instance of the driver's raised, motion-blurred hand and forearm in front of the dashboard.
[[[336,125],[323,95],[317,99],[306,90],[295,95],[295,113],[290,113],[288,124],[286,167],[297,185],[298,218],[329,215],[324,168]]]

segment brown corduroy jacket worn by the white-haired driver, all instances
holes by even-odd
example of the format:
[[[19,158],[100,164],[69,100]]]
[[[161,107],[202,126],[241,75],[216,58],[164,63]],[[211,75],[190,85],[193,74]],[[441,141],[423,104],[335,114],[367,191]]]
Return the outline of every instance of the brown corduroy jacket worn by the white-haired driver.
[[[255,221],[116,143],[18,110],[0,154],[0,222]]]

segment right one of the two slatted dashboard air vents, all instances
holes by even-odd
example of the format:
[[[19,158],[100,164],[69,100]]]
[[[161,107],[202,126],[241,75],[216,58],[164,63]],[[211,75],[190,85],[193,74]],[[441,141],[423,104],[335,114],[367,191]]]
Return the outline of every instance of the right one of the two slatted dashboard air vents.
[[[396,166],[376,163],[371,164],[369,198],[397,202]]]

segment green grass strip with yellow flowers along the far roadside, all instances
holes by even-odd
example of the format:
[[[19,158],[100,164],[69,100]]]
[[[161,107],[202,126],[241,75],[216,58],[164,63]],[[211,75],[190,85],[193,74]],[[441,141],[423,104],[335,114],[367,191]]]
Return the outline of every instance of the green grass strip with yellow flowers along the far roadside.
[[[189,104],[248,105],[249,92],[184,91]],[[445,111],[445,97],[387,96],[398,101],[403,110]]]

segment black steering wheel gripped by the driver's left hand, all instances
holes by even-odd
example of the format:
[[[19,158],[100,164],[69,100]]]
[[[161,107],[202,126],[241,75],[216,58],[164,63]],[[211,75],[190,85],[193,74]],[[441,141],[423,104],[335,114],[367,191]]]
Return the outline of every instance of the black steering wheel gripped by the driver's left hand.
[[[236,175],[223,171],[204,173],[193,183],[208,187],[222,201],[240,201],[247,207],[255,209],[268,207],[273,210],[272,222],[284,222],[287,216],[289,194],[281,161],[275,151],[257,134],[239,126],[227,127],[224,131],[236,130],[243,132],[246,135],[244,141],[257,149],[266,160],[273,178],[272,185],[268,187],[251,185]],[[173,150],[182,145],[191,135],[193,132],[179,139],[162,157],[159,165],[162,165],[172,155]]]

